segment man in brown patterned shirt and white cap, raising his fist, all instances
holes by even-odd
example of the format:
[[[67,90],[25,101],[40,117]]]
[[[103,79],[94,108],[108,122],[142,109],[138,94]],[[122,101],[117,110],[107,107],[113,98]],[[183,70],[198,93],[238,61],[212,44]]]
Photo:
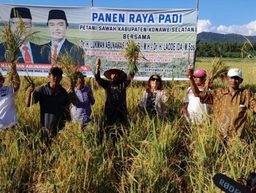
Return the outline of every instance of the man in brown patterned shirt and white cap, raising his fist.
[[[244,127],[248,109],[256,114],[256,100],[248,89],[240,89],[243,82],[242,71],[232,68],[227,73],[226,89],[218,88],[211,91],[200,91],[193,78],[193,69],[187,69],[191,89],[201,103],[212,104],[214,122],[221,133],[222,139],[244,137]],[[225,140],[226,141],[226,140]]]

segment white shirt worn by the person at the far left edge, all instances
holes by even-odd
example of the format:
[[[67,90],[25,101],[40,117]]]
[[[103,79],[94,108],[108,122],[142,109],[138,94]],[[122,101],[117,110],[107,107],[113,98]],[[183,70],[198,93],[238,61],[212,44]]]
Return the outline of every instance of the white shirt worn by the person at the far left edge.
[[[17,91],[18,92],[18,91]],[[0,88],[0,129],[6,129],[10,124],[17,124],[17,113],[13,93],[13,86],[2,86]]]

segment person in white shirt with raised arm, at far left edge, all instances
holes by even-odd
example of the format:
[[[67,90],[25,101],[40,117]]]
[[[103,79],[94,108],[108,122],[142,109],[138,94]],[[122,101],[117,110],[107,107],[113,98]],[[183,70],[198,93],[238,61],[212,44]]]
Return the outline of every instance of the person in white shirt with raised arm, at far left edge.
[[[20,77],[14,66],[13,77],[16,82],[13,85],[5,86],[5,78],[0,72],[0,129],[7,129],[10,125],[18,123],[14,97],[20,88]]]

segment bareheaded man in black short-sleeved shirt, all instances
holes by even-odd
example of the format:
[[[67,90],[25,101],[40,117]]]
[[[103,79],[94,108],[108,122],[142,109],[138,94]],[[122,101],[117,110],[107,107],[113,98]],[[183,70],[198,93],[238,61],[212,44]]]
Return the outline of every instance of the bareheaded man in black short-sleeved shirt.
[[[62,69],[52,67],[48,75],[50,82],[36,90],[30,86],[26,98],[26,106],[30,107],[31,93],[35,90],[33,98],[35,103],[39,101],[41,125],[47,127],[53,137],[64,127],[65,120],[71,120],[67,91],[60,84],[62,74]]]

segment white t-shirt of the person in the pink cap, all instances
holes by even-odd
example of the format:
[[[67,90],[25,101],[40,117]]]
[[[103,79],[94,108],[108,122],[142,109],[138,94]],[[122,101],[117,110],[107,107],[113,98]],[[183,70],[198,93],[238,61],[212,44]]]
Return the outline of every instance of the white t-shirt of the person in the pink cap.
[[[203,89],[199,88],[199,90],[202,91]],[[195,97],[191,87],[187,89],[184,102],[189,103],[185,114],[185,118],[188,122],[197,122],[198,124],[200,124],[202,120],[205,119],[205,117],[208,115],[208,109],[210,107],[210,104],[201,104],[199,97]]]

